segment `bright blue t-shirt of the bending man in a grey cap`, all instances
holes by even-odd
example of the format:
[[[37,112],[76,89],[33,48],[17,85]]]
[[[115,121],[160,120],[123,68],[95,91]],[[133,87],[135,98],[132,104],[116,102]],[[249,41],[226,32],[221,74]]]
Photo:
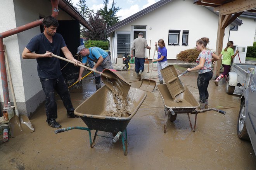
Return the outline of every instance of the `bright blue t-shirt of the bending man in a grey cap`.
[[[88,57],[92,60],[98,60],[100,56],[102,56],[103,58],[106,58],[109,55],[107,51],[99,47],[90,47],[89,51],[90,51],[90,54]],[[86,61],[87,61],[87,56],[83,56],[82,63],[86,63]]]

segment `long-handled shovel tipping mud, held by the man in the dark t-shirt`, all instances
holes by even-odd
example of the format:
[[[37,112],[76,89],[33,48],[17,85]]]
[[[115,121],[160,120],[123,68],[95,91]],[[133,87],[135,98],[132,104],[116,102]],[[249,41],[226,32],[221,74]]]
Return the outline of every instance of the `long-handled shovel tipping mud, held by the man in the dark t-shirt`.
[[[64,61],[67,61],[69,63],[73,63],[75,64],[74,61],[71,61],[69,59],[63,58],[61,56],[57,56],[55,54],[52,54],[51,56],[62,59]],[[86,68],[87,70],[93,71],[95,73],[98,73],[101,75],[102,78],[102,82],[104,82],[104,84],[112,91],[116,91],[115,88],[118,88],[119,91],[121,93],[123,93],[122,95],[127,95],[129,90],[130,90],[130,83],[127,82],[125,80],[125,78],[123,78],[123,76],[121,76],[118,71],[113,70],[113,69],[104,69],[102,72],[94,70],[92,68],[86,67],[84,65],[81,64],[77,64],[80,67]]]

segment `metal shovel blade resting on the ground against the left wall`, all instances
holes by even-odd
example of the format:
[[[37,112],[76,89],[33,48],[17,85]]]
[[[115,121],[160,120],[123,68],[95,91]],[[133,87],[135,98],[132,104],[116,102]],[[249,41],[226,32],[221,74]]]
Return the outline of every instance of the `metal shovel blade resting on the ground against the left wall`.
[[[9,127],[12,138],[35,131],[28,117],[21,114],[10,119]]]

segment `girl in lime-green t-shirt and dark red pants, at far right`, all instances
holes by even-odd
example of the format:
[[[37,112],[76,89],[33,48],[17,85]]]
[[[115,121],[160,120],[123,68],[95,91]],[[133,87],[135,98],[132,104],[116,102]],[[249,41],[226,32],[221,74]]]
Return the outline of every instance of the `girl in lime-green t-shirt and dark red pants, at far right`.
[[[221,78],[225,77],[226,75],[228,75],[229,71],[230,71],[230,67],[231,67],[231,59],[234,58],[237,53],[239,53],[239,51],[235,51],[234,54],[234,49],[232,48],[234,45],[233,41],[228,41],[227,43],[227,47],[225,49],[223,49],[220,53],[220,57],[223,56],[222,59],[222,66],[224,68],[224,71],[222,74],[220,74],[216,80],[214,80],[215,85],[218,85],[218,82],[221,80]]]

